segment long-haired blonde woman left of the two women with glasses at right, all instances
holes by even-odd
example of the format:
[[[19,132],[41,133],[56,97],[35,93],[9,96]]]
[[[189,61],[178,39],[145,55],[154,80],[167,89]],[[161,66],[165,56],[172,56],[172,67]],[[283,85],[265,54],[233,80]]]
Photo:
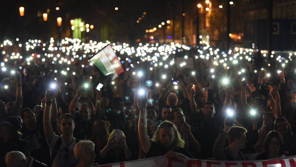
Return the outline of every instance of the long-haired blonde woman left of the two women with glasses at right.
[[[254,145],[256,152],[262,152],[263,142],[267,134],[274,130],[274,121],[276,120],[276,114],[273,112],[267,112],[263,115],[263,125],[258,130],[258,141]]]

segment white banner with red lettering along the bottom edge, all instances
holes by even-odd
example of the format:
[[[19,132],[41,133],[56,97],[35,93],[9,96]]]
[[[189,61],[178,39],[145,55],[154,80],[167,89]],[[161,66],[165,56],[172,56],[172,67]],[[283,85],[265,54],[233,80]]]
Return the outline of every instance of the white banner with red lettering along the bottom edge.
[[[165,156],[133,160],[100,167],[296,167],[296,156],[270,160],[215,161],[199,159],[176,159]],[[99,166],[98,166],[99,167]]]

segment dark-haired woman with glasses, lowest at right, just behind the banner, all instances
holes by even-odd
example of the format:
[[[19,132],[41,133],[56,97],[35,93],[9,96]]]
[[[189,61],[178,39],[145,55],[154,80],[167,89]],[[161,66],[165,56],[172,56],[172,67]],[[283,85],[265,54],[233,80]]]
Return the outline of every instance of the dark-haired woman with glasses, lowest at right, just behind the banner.
[[[272,158],[280,158],[285,154],[284,150],[284,139],[278,131],[270,131],[263,143],[263,153],[256,157],[256,160],[267,160]]]

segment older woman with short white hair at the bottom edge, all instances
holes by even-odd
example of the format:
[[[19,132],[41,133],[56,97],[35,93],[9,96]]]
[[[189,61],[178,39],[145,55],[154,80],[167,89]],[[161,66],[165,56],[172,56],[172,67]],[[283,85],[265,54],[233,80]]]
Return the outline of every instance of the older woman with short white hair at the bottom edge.
[[[75,158],[80,160],[75,167],[88,167],[99,165],[94,163],[96,154],[94,153],[94,143],[90,140],[81,140],[74,147]]]

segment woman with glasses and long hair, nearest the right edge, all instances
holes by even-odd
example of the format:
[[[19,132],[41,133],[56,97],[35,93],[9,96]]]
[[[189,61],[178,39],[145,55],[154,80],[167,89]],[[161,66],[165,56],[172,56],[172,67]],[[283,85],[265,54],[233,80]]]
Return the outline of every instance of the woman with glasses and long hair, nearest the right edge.
[[[284,139],[284,152],[296,155],[296,139],[287,119],[284,117],[276,118],[274,130],[278,131]]]

